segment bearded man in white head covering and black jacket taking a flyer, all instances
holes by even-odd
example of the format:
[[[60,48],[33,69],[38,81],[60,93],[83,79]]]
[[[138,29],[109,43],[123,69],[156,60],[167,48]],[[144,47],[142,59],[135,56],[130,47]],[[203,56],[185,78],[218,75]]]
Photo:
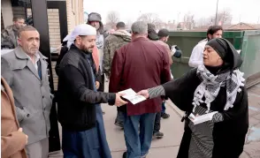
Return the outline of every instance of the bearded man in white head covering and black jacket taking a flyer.
[[[70,49],[59,65],[57,117],[64,157],[111,158],[99,103],[118,107],[127,103],[120,98],[123,94],[96,91],[95,46],[96,28],[76,26],[68,39]]]

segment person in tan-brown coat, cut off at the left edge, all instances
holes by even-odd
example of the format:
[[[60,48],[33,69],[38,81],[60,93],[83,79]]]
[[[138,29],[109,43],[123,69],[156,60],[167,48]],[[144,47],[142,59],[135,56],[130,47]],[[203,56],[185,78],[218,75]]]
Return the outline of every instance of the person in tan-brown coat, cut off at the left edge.
[[[27,135],[19,128],[11,88],[1,78],[1,157],[27,158]]]

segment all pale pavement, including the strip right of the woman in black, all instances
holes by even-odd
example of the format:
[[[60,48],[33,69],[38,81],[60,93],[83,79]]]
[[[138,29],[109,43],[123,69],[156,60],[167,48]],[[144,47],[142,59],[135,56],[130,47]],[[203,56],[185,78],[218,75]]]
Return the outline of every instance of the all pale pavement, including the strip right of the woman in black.
[[[171,115],[168,119],[162,119],[161,132],[164,132],[163,139],[154,139],[147,158],[176,157],[180,139],[183,133],[183,123],[180,118],[183,112],[176,108],[172,102],[167,102],[166,111]],[[121,158],[126,151],[124,132],[114,125],[117,109],[116,107],[103,104],[104,125],[106,136],[111,148],[113,158]],[[249,89],[249,120],[250,128],[241,158],[260,157],[260,84]],[[62,152],[50,154],[52,158],[62,158]]]

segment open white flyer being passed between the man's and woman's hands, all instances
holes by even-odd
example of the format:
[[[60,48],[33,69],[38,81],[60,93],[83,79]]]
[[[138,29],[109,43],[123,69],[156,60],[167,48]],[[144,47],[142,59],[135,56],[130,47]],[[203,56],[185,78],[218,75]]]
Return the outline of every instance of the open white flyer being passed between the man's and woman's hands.
[[[144,96],[136,94],[132,88],[126,89],[119,93],[124,93],[125,95],[122,97],[126,98],[126,100],[132,102],[133,104],[146,100],[146,98]]]

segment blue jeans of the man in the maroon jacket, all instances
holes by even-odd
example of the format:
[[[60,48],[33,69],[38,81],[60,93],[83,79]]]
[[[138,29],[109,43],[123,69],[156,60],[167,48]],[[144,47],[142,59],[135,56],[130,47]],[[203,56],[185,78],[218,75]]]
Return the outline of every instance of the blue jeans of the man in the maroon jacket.
[[[148,154],[151,144],[156,114],[127,116],[125,113],[124,132],[126,158],[140,158]],[[140,132],[138,132],[140,125]]]

